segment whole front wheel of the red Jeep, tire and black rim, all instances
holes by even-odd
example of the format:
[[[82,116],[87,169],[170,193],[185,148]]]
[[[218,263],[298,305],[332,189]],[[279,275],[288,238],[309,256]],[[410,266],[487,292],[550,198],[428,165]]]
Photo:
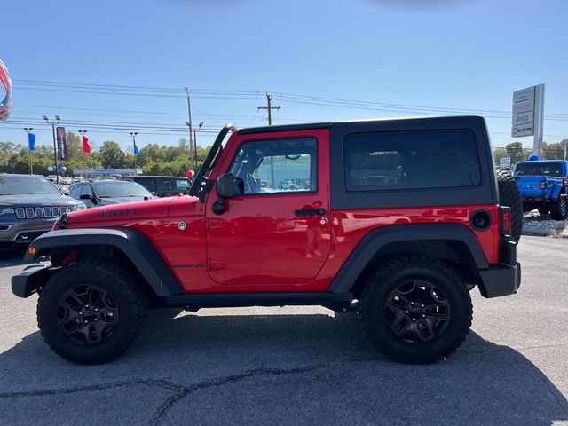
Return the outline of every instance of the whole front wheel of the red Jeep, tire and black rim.
[[[144,288],[114,261],[65,266],[43,287],[37,323],[60,357],[78,364],[118,358],[137,339],[148,312]]]

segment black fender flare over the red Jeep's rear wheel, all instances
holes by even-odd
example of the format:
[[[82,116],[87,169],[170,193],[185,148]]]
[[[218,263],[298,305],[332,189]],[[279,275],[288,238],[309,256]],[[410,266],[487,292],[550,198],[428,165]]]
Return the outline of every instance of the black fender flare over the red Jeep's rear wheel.
[[[329,286],[333,293],[351,292],[361,272],[367,268],[381,248],[393,242],[405,241],[460,241],[469,248],[477,270],[489,268],[483,249],[476,235],[465,225],[459,224],[411,224],[390,225],[367,233],[351,252]]]

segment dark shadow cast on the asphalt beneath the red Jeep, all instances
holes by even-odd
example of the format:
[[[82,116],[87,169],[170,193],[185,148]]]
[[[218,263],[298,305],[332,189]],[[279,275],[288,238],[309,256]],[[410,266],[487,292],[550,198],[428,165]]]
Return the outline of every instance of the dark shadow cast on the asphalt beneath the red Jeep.
[[[473,332],[446,361],[408,366],[378,355],[351,313],[232,312],[238,314],[203,310],[175,319],[152,312],[140,341],[103,366],[59,359],[32,333],[0,354],[0,413],[9,413],[4,420],[11,422],[51,423],[73,409],[76,416],[67,421],[80,422],[78,401],[88,400],[103,420],[143,416],[150,423],[568,421],[566,399],[538,367]],[[143,406],[120,402],[138,393]]]

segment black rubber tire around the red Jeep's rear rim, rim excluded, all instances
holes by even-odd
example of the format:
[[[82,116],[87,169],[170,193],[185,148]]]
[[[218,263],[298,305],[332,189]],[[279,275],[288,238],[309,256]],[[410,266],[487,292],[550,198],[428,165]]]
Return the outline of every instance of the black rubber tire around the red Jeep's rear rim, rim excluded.
[[[387,322],[384,306],[388,298],[398,286],[412,280],[432,282],[450,306],[445,331],[431,342],[401,340]],[[359,316],[368,338],[386,357],[406,364],[427,364],[445,359],[461,346],[471,327],[473,306],[463,280],[446,264],[426,256],[402,256],[367,276],[359,295]]]

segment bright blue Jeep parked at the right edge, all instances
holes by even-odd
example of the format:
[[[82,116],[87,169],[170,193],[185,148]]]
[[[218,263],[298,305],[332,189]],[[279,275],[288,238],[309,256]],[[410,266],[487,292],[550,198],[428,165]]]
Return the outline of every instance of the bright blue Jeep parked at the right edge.
[[[568,217],[568,162],[543,160],[517,162],[514,177],[523,196],[523,209],[539,209],[540,215],[556,220]]]

